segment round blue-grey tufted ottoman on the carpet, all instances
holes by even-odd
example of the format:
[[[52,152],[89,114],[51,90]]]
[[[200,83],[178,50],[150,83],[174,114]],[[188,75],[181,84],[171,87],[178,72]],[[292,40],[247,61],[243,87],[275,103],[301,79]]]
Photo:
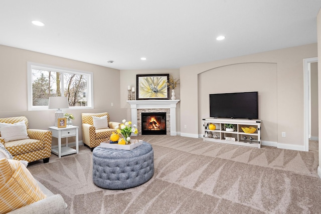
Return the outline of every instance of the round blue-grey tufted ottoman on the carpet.
[[[94,184],[106,189],[135,187],[154,174],[154,152],[146,142],[132,150],[97,146],[92,160]]]

